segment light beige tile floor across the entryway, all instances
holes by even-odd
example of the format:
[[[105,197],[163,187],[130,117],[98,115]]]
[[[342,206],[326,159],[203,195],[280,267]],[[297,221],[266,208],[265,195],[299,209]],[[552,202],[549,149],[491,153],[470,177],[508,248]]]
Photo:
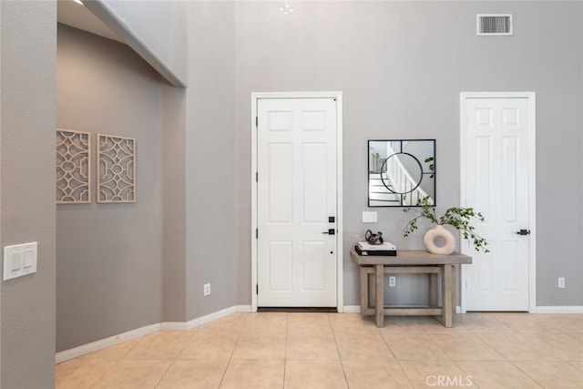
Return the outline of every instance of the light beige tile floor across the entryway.
[[[583,388],[583,314],[234,313],[56,365],[65,388]]]

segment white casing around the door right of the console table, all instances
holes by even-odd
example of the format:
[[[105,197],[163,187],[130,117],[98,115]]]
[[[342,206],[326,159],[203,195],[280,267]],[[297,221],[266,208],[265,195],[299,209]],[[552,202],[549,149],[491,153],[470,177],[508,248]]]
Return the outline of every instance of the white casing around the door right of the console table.
[[[460,202],[465,199],[465,109],[470,98],[526,98],[528,101],[528,312],[537,312],[537,101],[535,92],[461,92],[460,93]],[[462,272],[462,282],[464,275]],[[461,312],[465,313],[464,284],[461,289]]]

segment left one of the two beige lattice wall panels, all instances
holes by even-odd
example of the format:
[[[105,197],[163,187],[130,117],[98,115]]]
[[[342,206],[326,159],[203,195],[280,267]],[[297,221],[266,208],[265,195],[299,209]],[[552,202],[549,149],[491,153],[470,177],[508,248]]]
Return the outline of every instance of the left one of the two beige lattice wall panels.
[[[91,136],[56,129],[56,203],[91,202]]]

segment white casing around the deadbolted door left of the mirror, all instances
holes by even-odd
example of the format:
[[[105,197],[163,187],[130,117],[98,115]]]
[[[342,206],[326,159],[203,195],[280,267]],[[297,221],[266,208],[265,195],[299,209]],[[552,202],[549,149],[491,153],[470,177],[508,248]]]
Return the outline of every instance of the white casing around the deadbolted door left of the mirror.
[[[251,312],[257,312],[257,104],[261,98],[334,98],[336,100],[336,309],[343,312],[343,93],[251,92]]]

